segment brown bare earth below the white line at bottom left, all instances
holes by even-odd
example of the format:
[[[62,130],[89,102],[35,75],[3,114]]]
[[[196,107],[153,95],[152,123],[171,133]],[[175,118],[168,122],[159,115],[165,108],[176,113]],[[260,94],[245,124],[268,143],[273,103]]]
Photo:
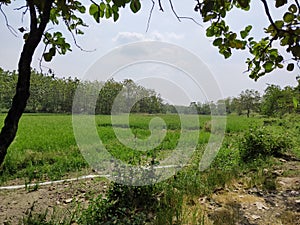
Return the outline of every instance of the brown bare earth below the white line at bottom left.
[[[78,207],[105,192],[107,182],[100,178],[63,182],[30,189],[0,190],[0,224],[18,224],[34,206],[35,213],[55,211],[58,217],[71,217]]]

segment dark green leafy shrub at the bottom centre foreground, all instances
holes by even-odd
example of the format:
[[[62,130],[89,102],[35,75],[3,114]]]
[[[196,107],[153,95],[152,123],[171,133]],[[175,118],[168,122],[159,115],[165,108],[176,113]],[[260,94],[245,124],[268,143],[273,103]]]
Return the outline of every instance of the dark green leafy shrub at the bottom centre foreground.
[[[153,189],[112,183],[106,196],[98,196],[82,213],[79,224],[145,224],[156,206]]]

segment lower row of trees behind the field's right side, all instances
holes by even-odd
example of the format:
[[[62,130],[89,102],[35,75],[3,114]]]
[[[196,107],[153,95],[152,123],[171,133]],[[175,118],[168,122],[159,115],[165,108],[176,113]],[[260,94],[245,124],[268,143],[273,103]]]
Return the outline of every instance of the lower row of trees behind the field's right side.
[[[231,114],[250,116],[256,113],[266,116],[283,116],[288,113],[300,113],[300,77],[297,77],[297,86],[268,85],[263,94],[255,90],[242,91],[237,97],[229,97],[214,102],[192,102],[190,107],[196,107],[198,114]],[[218,112],[218,105],[224,104],[226,112]],[[188,112],[188,110],[187,110]]]

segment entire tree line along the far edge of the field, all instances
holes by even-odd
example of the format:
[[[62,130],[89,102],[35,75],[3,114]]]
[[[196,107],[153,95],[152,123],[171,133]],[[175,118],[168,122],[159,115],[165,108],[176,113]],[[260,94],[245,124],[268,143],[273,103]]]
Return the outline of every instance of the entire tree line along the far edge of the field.
[[[15,71],[0,68],[0,110],[6,112],[12,103],[17,82]],[[194,113],[209,115],[231,114],[250,116],[251,113],[266,116],[282,116],[286,113],[300,113],[300,78],[296,87],[268,85],[263,94],[255,90],[242,91],[237,97],[229,97],[217,102],[191,102],[189,106],[173,106],[163,102],[154,90],[146,89],[130,79],[122,82],[113,79],[106,82],[80,81],[78,78],[57,78],[35,70],[31,74],[30,98],[26,112],[32,113],[72,113],[87,112],[96,114],[118,113]],[[89,97],[100,90],[96,107]],[[73,107],[76,90],[84,99]],[[219,105],[224,107],[218,107]],[[114,105],[114,108],[113,108]],[[73,107],[73,108],[72,108]]]

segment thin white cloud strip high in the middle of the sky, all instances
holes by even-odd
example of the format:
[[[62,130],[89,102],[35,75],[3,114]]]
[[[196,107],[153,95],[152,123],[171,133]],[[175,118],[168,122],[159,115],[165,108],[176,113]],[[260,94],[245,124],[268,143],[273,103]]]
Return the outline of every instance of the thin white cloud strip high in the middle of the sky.
[[[137,32],[119,32],[113,41],[118,44],[126,44],[137,41],[172,41],[183,39],[184,35],[178,35],[173,32],[171,33],[159,33],[157,31],[151,32],[150,34],[142,34]]]

